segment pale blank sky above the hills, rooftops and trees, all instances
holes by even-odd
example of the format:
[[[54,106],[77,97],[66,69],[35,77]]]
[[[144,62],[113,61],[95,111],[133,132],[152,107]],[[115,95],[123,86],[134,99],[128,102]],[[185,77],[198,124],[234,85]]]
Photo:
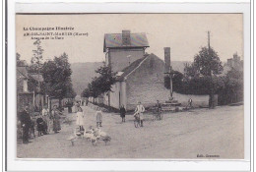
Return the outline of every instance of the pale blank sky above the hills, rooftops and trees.
[[[24,36],[34,28],[71,27],[73,30],[51,32],[80,32],[64,39],[42,39],[43,59],[53,59],[66,52],[70,63],[101,62],[104,60],[104,33],[145,32],[150,47],[146,52],[163,59],[163,47],[170,47],[172,61],[193,61],[200,48],[207,46],[211,31],[211,46],[226,62],[237,52],[243,59],[242,14],[80,14],[80,15],[17,15],[16,52],[30,63],[35,49],[32,36]],[[29,29],[29,30],[25,30]]]

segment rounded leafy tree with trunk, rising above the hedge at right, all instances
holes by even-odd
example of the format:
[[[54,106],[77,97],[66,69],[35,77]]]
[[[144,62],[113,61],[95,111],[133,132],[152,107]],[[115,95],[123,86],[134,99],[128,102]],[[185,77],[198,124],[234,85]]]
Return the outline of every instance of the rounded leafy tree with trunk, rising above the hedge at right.
[[[197,78],[205,78],[205,86],[209,90],[210,108],[213,108],[213,100],[215,94],[214,78],[222,74],[224,68],[218,53],[209,46],[202,47],[198,54],[194,57],[194,62],[185,66],[185,76],[187,80],[194,80]],[[218,81],[218,80],[216,80]]]

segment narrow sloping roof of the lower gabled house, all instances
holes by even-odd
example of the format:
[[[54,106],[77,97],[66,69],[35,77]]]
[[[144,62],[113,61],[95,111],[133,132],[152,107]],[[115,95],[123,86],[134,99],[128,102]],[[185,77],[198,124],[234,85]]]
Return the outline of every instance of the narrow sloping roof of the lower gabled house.
[[[146,54],[144,55],[142,58],[134,61],[131,65],[129,65],[128,67],[124,68],[122,70],[123,74],[119,77],[117,77],[117,81],[121,82],[124,81],[124,78],[127,77],[130,73],[132,73],[138,66],[140,66],[141,63],[143,63],[143,61],[150,57],[152,54]]]

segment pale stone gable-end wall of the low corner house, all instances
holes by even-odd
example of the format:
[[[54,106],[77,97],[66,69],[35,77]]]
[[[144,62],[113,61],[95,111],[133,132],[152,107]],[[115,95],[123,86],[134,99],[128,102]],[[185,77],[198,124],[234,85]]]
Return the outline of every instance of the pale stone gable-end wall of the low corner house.
[[[138,101],[145,107],[153,106],[157,100],[168,99],[169,91],[164,87],[164,62],[151,54],[131,75],[127,76],[127,109],[132,110]]]

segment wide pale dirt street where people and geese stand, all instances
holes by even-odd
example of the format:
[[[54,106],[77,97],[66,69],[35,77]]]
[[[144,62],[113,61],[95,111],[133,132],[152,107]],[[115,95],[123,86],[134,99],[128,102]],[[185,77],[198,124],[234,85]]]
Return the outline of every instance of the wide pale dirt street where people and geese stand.
[[[96,126],[96,110],[83,107],[86,128]],[[18,157],[36,158],[243,158],[243,106],[222,106],[214,110],[195,109],[190,112],[166,113],[162,121],[145,115],[143,128],[135,128],[133,116],[121,123],[118,114],[103,113],[102,131],[111,143],[102,141],[96,146],[78,140],[74,146],[67,139],[75,128],[75,113],[62,124],[58,134],[36,137],[32,143],[18,143]],[[36,132],[37,134],[37,132]]]

